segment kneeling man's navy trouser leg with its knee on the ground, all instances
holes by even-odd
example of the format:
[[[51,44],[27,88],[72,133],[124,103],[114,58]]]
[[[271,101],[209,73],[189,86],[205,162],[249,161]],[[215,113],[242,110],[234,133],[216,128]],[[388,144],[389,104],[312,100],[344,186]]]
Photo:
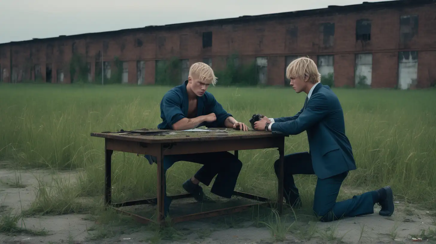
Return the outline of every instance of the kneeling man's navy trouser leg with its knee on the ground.
[[[327,179],[318,178],[315,198],[313,200],[313,211],[320,217],[321,221],[329,222],[339,220],[342,217],[374,213],[371,192],[336,202],[339,189],[347,174],[348,172],[345,172]]]

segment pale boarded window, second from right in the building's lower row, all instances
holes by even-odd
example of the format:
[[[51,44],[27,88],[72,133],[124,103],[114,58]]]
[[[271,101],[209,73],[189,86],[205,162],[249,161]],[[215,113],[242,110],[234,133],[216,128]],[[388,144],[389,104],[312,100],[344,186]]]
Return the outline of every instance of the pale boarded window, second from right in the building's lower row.
[[[371,86],[372,54],[356,54],[354,84],[356,87]]]

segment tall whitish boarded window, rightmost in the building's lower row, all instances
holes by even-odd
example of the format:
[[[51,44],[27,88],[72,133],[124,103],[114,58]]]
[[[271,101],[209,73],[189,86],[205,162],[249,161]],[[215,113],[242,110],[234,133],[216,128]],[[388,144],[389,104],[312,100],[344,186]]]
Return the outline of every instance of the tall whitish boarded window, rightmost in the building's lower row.
[[[402,90],[416,85],[418,78],[418,52],[399,52],[398,87]]]

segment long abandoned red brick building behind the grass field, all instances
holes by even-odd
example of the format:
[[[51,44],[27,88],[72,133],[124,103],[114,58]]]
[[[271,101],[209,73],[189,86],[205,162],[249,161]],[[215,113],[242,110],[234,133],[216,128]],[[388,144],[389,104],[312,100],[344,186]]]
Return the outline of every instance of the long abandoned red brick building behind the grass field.
[[[233,56],[232,54],[238,54]],[[436,85],[436,0],[329,6],[164,26],[0,44],[0,81],[155,84],[163,60],[214,70],[254,63],[256,82],[286,85],[285,69],[308,56],[334,86],[428,88]],[[219,77],[218,77],[219,80]],[[177,81],[177,82],[179,82]],[[218,83],[219,84],[219,83]]]

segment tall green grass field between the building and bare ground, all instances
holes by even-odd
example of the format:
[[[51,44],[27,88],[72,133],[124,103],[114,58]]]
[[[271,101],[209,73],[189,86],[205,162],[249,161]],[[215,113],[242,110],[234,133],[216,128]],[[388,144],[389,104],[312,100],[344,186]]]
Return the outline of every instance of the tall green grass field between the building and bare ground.
[[[40,212],[76,211],[76,197],[102,196],[104,140],[91,132],[156,128],[159,102],[170,87],[0,85],[0,160],[19,168],[80,169],[76,185],[60,183],[33,206]],[[290,88],[210,90],[238,121],[254,113],[294,115],[305,94]],[[347,136],[358,166],[345,186],[374,190],[391,185],[396,200],[436,207],[436,90],[334,89],[345,113]],[[306,133],[286,139],[285,153],[308,150]],[[241,151],[244,164],[237,190],[276,195],[276,149]],[[135,154],[114,153],[114,201],[153,197],[156,166]],[[183,193],[181,183],[200,165],[180,162],[167,173],[167,192]],[[316,178],[297,176],[303,203],[310,204]],[[68,189],[67,189],[68,188]],[[49,202],[49,200],[52,202]],[[53,202],[56,202],[54,204]],[[64,205],[62,205],[64,204]],[[70,204],[70,205],[68,205]],[[66,206],[65,206],[66,205]]]

